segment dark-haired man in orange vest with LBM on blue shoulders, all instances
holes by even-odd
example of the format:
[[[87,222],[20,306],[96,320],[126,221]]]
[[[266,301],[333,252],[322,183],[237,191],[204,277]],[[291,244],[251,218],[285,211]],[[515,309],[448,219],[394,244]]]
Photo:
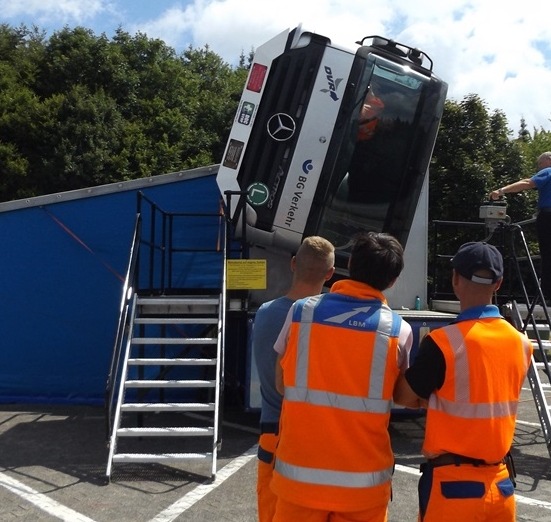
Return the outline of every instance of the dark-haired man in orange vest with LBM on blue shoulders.
[[[402,269],[394,237],[364,233],[350,279],[291,307],[274,346],[283,393],[274,522],[387,520],[392,392],[412,331],[382,292]]]

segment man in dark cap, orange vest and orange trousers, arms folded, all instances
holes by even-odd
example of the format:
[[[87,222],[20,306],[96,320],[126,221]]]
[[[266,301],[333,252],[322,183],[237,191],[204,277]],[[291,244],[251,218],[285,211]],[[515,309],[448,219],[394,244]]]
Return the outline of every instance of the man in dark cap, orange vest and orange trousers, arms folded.
[[[460,313],[425,337],[394,394],[399,404],[427,408],[419,520],[513,522],[507,464],[533,348],[492,304],[503,280],[499,250],[466,243],[452,267]]]

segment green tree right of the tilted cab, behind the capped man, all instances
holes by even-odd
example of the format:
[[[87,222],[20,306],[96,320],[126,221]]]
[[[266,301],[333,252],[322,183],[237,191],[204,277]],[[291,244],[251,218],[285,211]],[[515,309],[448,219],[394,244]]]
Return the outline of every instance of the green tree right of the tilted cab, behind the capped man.
[[[487,238],[480,207],[504,179],[523,171],[522,149],[510,136],[503,112],[490,113],[479,96],[446,101],[429,178],[429,295],[435,286],[451,293],[449,258],[461,243]]]

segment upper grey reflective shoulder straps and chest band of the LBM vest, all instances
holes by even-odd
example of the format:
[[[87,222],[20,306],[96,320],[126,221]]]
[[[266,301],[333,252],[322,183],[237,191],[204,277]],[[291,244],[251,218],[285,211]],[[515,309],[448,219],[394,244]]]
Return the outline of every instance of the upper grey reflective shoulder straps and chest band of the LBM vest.
[[[388,352],[388,338],[397,331],[394,324],[395,314],[388,307],[381,307],[379,323],[376,329],[373,362],[369,377],[367,397],[354,397],[320,390],[310,390],[308,383],[308,362],[310,357],[310,334],[314,310],[322,296],[308,298],[300,315],[298,324],[297,364],[295,386],[285,386],[285,399],[300,401],[316,406],[330,406],[333,408],[368,413],[388,413],[392,401],[383,399],[384,378],[386,375],[386,360]]]

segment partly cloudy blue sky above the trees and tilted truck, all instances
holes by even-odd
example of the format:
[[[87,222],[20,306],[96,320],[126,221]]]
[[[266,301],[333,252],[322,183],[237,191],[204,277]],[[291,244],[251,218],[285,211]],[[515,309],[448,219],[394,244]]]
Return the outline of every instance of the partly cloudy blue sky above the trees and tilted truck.
[[[178,52],[208,44],[228,63],[299,23],[352,49],[379,34],[426,52],[449,98],[478,94],[515,133],[521,118],[551,130],[550,19],[545,0],[0,0],[0,22],[12,26],[109,37],[121,26]]]

